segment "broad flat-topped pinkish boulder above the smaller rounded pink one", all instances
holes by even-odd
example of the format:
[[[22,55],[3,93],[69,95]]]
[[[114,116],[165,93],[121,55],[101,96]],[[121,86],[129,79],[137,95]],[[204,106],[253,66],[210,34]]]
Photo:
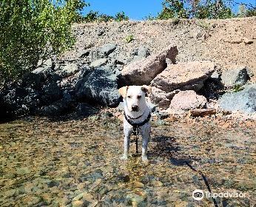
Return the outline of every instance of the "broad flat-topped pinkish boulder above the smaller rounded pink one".
[[[165,92],[175,89],[198,91],[214,71],[215,64],[211,61],[180,62],[169,65],[152,80],[151,85]]]

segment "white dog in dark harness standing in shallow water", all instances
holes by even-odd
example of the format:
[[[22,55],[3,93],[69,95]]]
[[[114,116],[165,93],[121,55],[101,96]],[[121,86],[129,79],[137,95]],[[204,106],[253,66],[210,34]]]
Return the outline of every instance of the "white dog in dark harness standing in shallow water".
[[[147,161],[147,144],[150,140],[151,109],[146,104],[145,95],[151,92],[150,86],[124,86],[118,89],[124,98],[124,160],[128,159],[129,140],[132,132],[137,131],[142,136],[143,161]]]

